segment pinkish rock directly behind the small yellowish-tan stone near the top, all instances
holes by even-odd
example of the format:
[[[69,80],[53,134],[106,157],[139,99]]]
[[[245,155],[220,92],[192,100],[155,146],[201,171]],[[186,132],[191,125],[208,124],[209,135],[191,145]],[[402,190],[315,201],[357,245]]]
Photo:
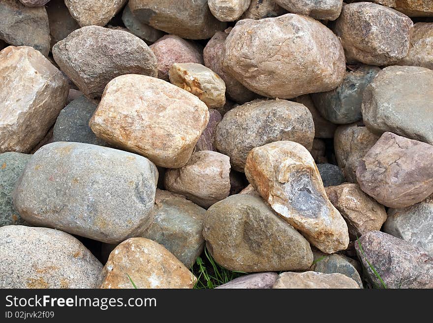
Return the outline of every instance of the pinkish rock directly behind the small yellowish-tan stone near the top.
[[[164,81],[169,81],[168,71],[174,63],[203,64],[201,49],[193,42],[176,35],[165,35],[150,48],[158,62],[158,78]]]

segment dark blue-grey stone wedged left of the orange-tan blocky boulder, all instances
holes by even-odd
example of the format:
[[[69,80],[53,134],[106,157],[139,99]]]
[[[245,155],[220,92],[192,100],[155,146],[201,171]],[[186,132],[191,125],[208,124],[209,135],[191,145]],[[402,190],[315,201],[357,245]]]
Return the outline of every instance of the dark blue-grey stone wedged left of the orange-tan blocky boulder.
[[[53,142],[66,141],[107,146],[89,127],[89,120],[96,107],[97,101],[89,100],[84,95],[69,103],[57,117],[53,130]]]

